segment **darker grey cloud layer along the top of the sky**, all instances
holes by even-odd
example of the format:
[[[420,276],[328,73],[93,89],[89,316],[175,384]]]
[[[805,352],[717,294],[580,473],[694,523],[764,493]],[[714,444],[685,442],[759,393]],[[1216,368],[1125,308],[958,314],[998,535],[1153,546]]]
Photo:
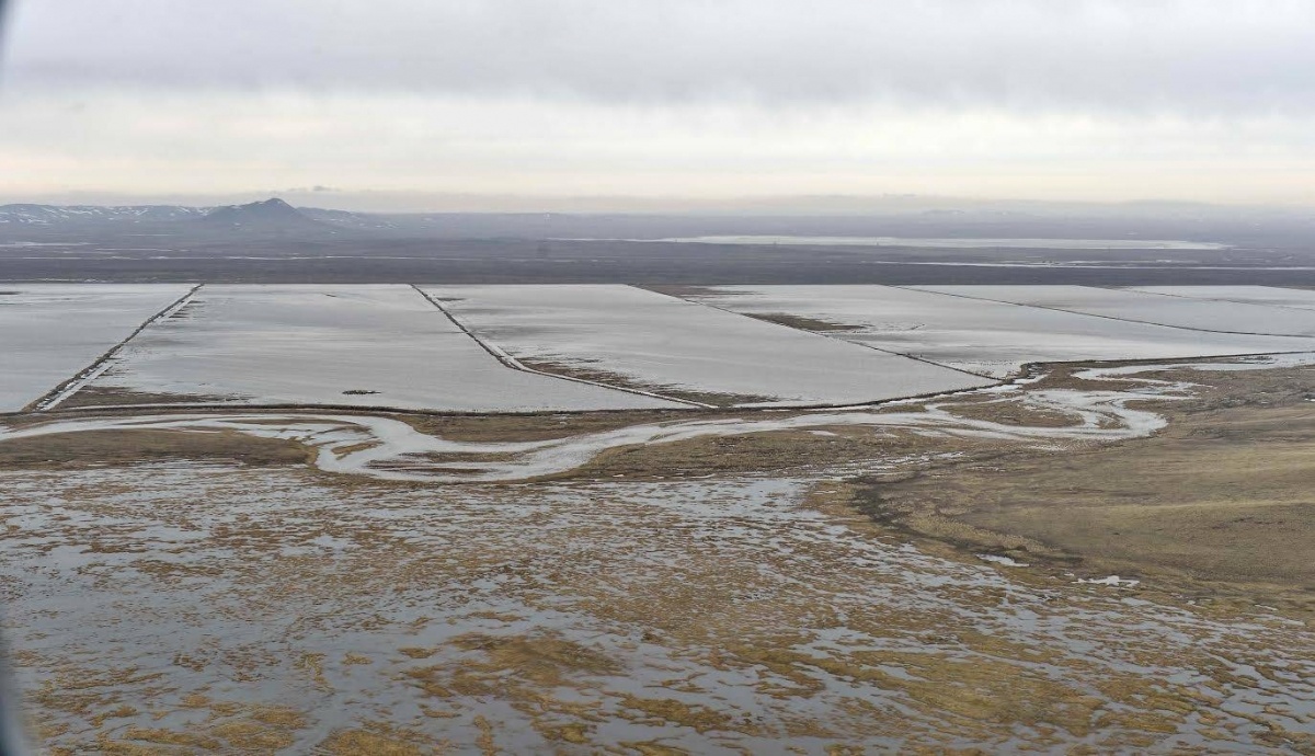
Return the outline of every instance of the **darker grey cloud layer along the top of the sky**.
[[[28,0],[21,88],[1315,109],[1311,0]]]

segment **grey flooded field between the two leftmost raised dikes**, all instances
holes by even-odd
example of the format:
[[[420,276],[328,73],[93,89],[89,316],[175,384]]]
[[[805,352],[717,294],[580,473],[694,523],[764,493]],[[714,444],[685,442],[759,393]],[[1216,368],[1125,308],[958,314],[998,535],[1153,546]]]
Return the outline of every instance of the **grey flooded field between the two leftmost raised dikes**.
[[[448,412],[673,408],[506,369],[408,285],[206,285],[64,402]]]

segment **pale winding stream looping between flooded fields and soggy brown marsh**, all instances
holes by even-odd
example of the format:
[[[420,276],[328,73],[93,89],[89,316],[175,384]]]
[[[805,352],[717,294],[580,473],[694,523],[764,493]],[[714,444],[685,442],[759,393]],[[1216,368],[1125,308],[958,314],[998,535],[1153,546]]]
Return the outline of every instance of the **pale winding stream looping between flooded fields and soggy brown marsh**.
[[[1164,427],[1162,415],[1131,402],[1190,396],[1193,384],[1136,377],[1165,369],[1260,369],[1307,364],[1315,355],[1283,355],[1265,362],[1161,364],[1090,368],[1086,380],[1119,384],[1107,390],[1034,389],[993,387],[960,396],[999,394],[995,401],[1020,401],[1028,409],[1063,413],[1074,423],[1063,427],[1005,425],[959,417],[956,400],[931,402],[926,409],[892,412],[871,406],[810,412],[790,417],[688,419],[644,423],[609,431],[535,442],[464,442],[426,434],[381,415],[359,414],[150,414],[138,417],[57,419],[28,427],[0,430],[0,443],[24,438],[85,431],[183,430],[235,431],[258,438],[285,439],[318,450],[316,465],[325,472],[364,475],[380,480],[430,483],[506,483],[565,472],[598,454],[623,446],[659,444],[701,437],[819,429],[835,426],[888,430],[926,430],[939,434],[1015,442],[1120,440],[1149,435]],[[460,459],[444,459],[460,455]],[[471,458],[476,459],[471,459]],[[485,456],[489,459],[477,459]]]

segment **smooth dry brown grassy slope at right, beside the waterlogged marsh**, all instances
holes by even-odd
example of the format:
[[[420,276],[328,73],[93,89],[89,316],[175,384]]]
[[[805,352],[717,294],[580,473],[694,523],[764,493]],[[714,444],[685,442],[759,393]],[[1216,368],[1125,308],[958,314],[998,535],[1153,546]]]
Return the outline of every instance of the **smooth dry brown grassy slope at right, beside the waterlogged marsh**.
[[[1152,438],[968,459],[872,481],[855,501],[965,550],[1093,575],[1155,575],[1195,592],[1315,588],[1315,375],[1173,377],[1185,376],[1206,385],[1164,402],[1170,423]]]

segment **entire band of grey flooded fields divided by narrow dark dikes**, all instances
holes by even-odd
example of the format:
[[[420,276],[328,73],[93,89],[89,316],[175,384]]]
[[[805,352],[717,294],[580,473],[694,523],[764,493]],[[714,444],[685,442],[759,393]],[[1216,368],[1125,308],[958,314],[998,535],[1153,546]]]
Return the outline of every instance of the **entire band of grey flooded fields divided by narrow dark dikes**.
[[[1036,362],[1315,348],[1301,289],[58,285],[0,293],[0,410],[838,406]],[[39,406],[38,406],[39,405]]]

